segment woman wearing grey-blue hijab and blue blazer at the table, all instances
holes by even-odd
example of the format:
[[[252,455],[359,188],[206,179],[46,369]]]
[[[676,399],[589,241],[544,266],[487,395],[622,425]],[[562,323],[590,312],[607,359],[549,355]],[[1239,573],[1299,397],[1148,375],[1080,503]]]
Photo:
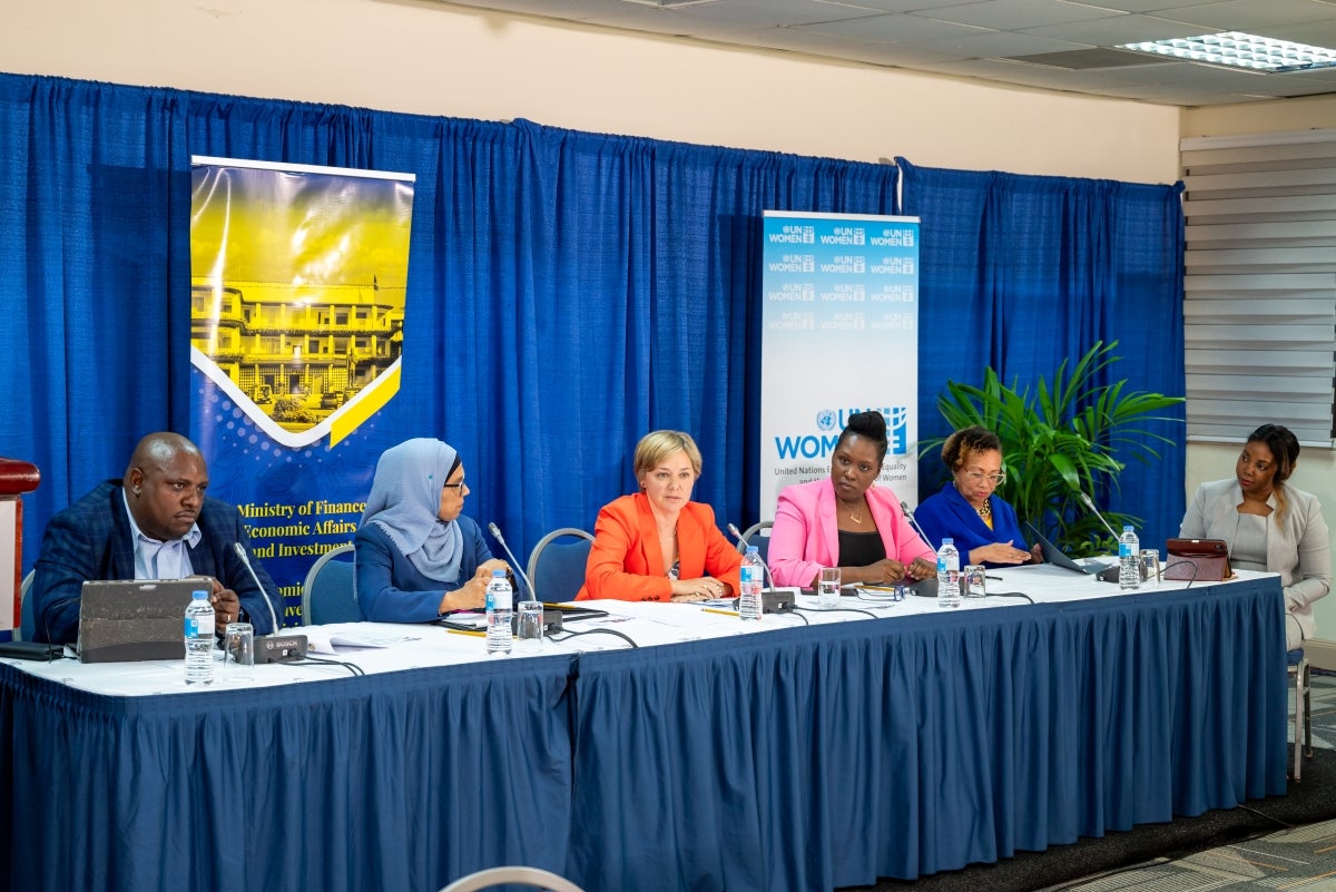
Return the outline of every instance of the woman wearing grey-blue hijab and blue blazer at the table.
[[[362,616],[429,622],[484,606],[492,570],[509,568],[461,514],[468,494],[458,454],[438,439],[410,439],[381,455],[353,538]]]

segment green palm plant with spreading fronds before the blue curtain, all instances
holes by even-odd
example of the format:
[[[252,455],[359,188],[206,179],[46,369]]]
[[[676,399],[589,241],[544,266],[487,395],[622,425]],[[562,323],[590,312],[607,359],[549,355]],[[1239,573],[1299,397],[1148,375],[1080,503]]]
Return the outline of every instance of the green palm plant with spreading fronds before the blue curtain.
[[[975,387],[949,381],[937,407],[953,430],[978,425],[1002,441],[1006,482],[998,494],[1021,521],[1043,530],[1063,551],[1075,555],[1117,550],[1098,518],[1081,505],[1079,493],[1104,493],[1117,486],[1124,459],[1158,458],[1157,443],[1172,439],[1146,430],[1149,421],[1173,421],[1157,414],[1184,402],[1182,397],[1129,390],[1126,381],[1098,383],[1100,373],[1120,358],[1118,346],[1097,342],[1071,367],[1063,361],[1049,385],[1039,378],[1033,393],[1007,387],[997,371],[983,373]],[[943,439],[919,443],[919,455],[941,449]],[[1140,526],[1141,518],[1105,511],[1114,529]]]

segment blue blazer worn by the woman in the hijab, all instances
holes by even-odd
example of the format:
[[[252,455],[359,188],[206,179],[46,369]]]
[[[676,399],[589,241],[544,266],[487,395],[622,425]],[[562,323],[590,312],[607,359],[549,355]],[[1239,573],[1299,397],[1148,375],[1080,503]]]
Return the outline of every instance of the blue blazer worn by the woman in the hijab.
[[[445,593],[472,580],[478,566],[492,560],[477,521],[461,514],[457,522],[464,534],[464,557],[460,577],[452,581],[422,576],[389,533],[375,523],[363,523],[353,537],[362,616],[375,622],[430,622],[441,616]]]

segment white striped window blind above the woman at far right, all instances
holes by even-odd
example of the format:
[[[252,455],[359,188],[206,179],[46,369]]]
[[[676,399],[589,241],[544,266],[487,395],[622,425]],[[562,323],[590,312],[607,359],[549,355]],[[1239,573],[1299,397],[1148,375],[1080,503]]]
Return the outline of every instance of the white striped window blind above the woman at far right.
[[[1180,143],[1188,439],[1332,446],[1336,130]]]

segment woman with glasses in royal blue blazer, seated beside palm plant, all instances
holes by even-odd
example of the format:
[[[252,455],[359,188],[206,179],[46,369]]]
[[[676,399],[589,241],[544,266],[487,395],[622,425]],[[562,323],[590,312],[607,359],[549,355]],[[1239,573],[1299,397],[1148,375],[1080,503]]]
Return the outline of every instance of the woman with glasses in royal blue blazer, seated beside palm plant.
[[[951,482],[927,497],[915,517],[929,545],[955,541],[961,564],[1007,566],[1039,564],[1039,546],[1027,549],[1013,509],[994,490],[1006,479],[1002,471],[1002,441],[983,427],[966,427],[946,438],[942,461],[951,469]]]

